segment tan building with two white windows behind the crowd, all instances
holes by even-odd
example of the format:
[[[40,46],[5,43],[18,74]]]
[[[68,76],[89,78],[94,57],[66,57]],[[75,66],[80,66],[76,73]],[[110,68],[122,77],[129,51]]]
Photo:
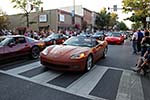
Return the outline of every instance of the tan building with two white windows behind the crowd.
[[[27,30],[27,22],[26,17],[22,14],[17,15],[9,15],[10,26],[9,29],[17,30],[19,34],[23,34],[25,30]],[[29,15],[30,24],[29,30],[40,31],[42,29],[53,29],[55,31],[58,30],[66,30],[72,29],[74,26],[78,26],[81,28],[82,24],[82,16],[75,15],[75,24],[72,24],[72,14],[67,11],[63,11],[60,9],[53,10],[43,10],[39,12],[32,12]]]

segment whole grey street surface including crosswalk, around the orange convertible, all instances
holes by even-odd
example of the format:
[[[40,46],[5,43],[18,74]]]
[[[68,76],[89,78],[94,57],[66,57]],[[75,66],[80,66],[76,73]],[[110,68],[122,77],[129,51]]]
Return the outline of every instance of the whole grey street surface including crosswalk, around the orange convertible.
[[[149,76],[131,71],[138,56],[126,41],[109,45],[107,57],[87,73],[53,71],[26,58],[3,64],[0,100],[149,100]]]

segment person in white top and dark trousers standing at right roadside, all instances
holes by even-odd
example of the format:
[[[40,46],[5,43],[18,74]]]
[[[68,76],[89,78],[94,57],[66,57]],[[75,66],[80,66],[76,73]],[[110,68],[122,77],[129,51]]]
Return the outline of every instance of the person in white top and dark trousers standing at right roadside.
[[[137,39],[138,39],[138,35],[137,32],[134,30],[132,35],[133,54],[137,54]]]

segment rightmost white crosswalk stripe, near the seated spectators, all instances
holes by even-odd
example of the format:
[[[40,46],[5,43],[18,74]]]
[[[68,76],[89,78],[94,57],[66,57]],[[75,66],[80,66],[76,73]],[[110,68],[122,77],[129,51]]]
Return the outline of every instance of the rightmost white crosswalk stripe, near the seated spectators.
[[[123,72],[116,100],[144,100],[139,75],[128,70]]]

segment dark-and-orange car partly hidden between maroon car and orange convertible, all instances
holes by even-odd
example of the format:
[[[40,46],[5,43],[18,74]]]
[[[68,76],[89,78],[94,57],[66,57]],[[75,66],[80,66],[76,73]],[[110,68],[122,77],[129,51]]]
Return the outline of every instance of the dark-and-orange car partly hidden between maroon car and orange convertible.
[[[49,46],[52,44],[62,44],[67,38],[69,38],[69,36],[53,33],[47,38],[43,39],[43,41],[45,42],[46,46]]]

